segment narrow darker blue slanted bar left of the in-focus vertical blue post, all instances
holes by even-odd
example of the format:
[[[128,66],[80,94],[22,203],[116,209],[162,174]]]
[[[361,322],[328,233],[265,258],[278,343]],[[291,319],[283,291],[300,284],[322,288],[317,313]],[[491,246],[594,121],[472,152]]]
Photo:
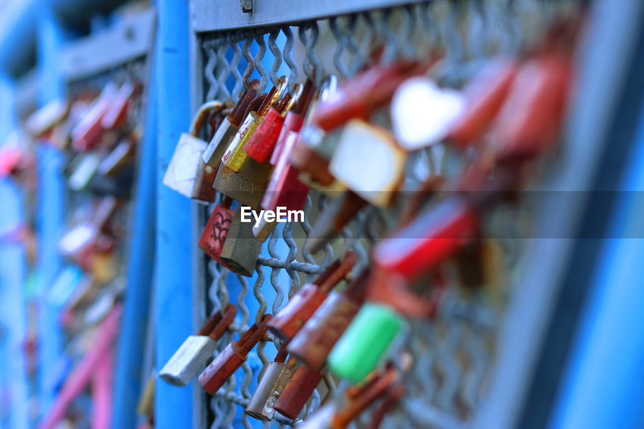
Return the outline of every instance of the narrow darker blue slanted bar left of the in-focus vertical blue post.
[[[156,87],[147,91],[145,135],[140,146],[134,219],[128,257],[128,286],[118,338],[114,379],[112,427],[133,428],[137,423],[135,405],[141,393],[144,345],[155,258],[156,216]]]

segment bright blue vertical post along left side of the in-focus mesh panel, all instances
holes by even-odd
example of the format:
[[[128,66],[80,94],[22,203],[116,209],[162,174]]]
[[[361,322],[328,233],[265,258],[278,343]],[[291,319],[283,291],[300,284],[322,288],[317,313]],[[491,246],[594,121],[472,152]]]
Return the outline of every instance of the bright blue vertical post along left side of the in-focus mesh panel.
[[[192,334],[191,200],[160,185],[176,142],[190,126],[188,2],[159,0],[156,50],[156,368]],[[155,428],[193,427],[193,390],[157,380]]]

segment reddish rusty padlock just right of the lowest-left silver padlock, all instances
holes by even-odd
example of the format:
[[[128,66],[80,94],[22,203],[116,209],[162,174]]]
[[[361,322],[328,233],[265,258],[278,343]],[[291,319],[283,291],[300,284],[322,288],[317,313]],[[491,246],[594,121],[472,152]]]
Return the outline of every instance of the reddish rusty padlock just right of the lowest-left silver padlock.
[[[217,357],[205,368],[199,376],[199,383],[206,392],[211,395],[219,390],[223,384],[242,367],[246,361],[248,353],[266,334],[267,323],[272,316],[265,314],[261,319],[261,324],[252,325],[238,341],[232,341],[222,350]]]

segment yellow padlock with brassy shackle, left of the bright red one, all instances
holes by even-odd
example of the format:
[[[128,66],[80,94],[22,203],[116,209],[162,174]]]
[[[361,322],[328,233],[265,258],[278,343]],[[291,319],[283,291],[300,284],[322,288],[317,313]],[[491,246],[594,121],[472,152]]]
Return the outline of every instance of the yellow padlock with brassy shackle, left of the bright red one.
[[[274,108],[278,105],[279,100],[281,100],[285,91],[287,90],[288,84],[289,80],[287,79],[287,77],[282,76],[279,79],[279,83],[269,91],[269,95],[260,106],[260,109],[258,111],[251,111],[247,115],[246,119],[242,123],[242,126],[240,126],[239,131],[232,138],[230,144],[228,145],[228,148],[223,153],[222,164],[224,166],[228,167],[235,173],[239,173],[242,169],[242,166],[245,166],[245,164],[247,164],[247,161],[252,159],[244,151],[244,148],[258,126],[260,126],[260,123],[265,119],[265,116],[267,115],[270,108]],[[261,165],[269,163],[256,162],[256,164]]]

